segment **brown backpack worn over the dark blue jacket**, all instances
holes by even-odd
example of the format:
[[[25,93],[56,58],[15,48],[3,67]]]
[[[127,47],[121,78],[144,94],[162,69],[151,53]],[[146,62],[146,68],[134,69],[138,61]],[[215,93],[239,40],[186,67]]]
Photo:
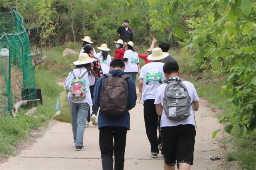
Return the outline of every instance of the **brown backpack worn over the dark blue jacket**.
[[[106,78],[102,86],[100,98],[100,110],[108,117],[122,117],[127,112],[128,85],[125,79],[129,76],[112,77],[112,74],[104,74]]]

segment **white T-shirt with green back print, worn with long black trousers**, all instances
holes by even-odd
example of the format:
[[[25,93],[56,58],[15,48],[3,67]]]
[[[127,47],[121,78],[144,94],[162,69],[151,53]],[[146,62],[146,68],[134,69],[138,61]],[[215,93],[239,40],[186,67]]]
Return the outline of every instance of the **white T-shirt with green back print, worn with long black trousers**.
[[[155,99],[156,88],[162,85],[166,79],[163,66],[164,63],[152,62],[141,68],[139,79],[143,79],[143,101],[147,99]]]

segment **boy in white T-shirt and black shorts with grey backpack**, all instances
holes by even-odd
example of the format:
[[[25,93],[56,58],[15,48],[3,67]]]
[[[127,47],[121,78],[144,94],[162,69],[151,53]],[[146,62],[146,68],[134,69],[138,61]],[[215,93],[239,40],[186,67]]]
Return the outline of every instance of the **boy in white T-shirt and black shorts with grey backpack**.
[[[165,63],[163,70],[167,79],[180,79],[179,65],[176,61]],[[186,86],[187,92],[191,97],[190,103],[194,105],[194,111],[198,111],[199,98],[194,85],[188,81],[182,81],[182,83]],[[190,166],[193,164],[196,136],[194,111],[191,106],[190,116],[184,120],[174,121],[167,119],[166,113],[163,110],[163,98],[165,95],[164,93],[166,93],[165,89],[167,85],[167,83],[164,83],[157,88],[156,99],[154,102],[156,104],[156,112],[161,116],[160,132],[162,137],[162,149],[164,152],[164,169],[175,170],[175,164],[177,161],[178,169],[190,170]],[[178,93],[176,93],[176,95],[177,94]],[[168,114],[173,112],[173,109],[175,109],[176,114],[176,107],[169,107]]]

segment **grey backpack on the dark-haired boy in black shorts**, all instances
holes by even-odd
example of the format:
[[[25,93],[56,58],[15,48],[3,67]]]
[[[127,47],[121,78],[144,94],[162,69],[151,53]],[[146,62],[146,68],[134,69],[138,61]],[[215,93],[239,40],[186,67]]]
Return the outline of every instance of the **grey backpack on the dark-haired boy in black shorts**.
[[[163,108],[166,117],[172,121],[183,121],[190,116],[191,97],[182,81],[176,76],[164,81],[168,85],[164,90]]]

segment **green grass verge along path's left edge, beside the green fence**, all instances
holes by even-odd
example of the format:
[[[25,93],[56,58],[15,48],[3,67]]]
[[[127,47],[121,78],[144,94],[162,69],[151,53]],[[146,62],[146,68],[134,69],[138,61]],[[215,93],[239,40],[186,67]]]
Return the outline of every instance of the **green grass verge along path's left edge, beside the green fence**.
[[[32,116],[23,115],[33,106],[20,107],[18,117],[0,116],[0,154],[16,155],[15,146],[26,138],[32,129],[38,129],[47,125],[56,112],[57,96],[61,91],[56,83],[56,75],[43,69],[35,69],[36,87],[42,89],[43,105],[37,105],[37,109]]]

